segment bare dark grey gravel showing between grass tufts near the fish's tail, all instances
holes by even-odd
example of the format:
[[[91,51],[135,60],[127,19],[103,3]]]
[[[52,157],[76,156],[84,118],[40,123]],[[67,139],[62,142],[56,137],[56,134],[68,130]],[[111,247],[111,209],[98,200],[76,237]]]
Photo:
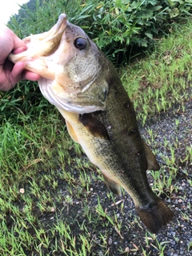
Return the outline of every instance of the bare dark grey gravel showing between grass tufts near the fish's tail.
[[[176,124],[175,120],[178,120]],[[163,228],[154,239],[150,234],[146,233],[146,227],[142,224],[134,208],[134,203],[130,196],[126,193],[121,198],[116,198],[115,202],[119,202],[116,205],[111,201],[111,198],[107,196],[108,189],[101,179],[95,182],[92,178],[92,174],[99,175],[93,166],[93,170],[88,170],[90,174],[91,187],[89,195],[85,195],[86,200],[82,194],[82,198],[75,198],[75,190],[73,203],[67,204],[61,202],[57,204],[57,218],[55,212],[48,214],[36,213],[38,221],[42,223],[42,226],[48,230],[51,226],[58,222],[58,219],[64,219],[66,224],[70,226],[72,232],[71,235],[78,238],[83,234],[81,226],[86,226],[90,240],[92,241],[93,250],[89,254],[91,256],[120,256],[120,255],[166,255],[166,256],[178,256],[192,255],[192,212],[190,206],[192,205],[192,187],[189,180],[192,179],[192,163],[190,161],[180,162],[180,158],[185,158],[186,146],[192,145],[192,99],[189,99],[185,103],[185,110],[182,111],[181,106],[175,106],[166,114],[162,113],[154,118],[149,118],[144,128],[140,127],[142,137],[145,140],[152,141],[147,130],[153,131],[153,144],[151,148],[156,148],[158,154],[157,158],[161,166],[163,166],[165,175],[169,175],[171,166],[164,166],[163,157],[170,157],[169,147],[165,148],[165,139],[169,142],[169,146],[174,146],[177,142],[176,150],[176,163],[178,173],[174,179],[173,187],[177,187],[177,190],[173,190],[169,197],[166,194],[160,194],[160,197],[168,204],[171,210],[174,211],[174,219]],[[177,139],[178,138],[178,139]],[[71,157],[77,158],[77,155],[71,150]],[[82,155],[85,161],[88,161],[85,155]],[[187,170],[188,175],[183,173],[183,170]],[[78,178],[78,170],[73,171],[74,177]],[[153,185],[154,179],[150,172],[148,173],[148,179],[150,185]],[[67,182],[58,180],[59,193],[62,193],[63,198],[69,194],[67,190]],[[166,192],[166,190],[164,191]],[[118,223],[122,223],[120,233],[113,225],[105,225],[106,219],[98,216],[97,205],[98,198],[102,205],[102,208],[107,211],[107,214],[114,216],[116,214]],[[123,209],[122,209],[123,202]],[[90,211],[91,220],[89,221],[85,217],[85,209]],[[93,222],[93,220],[97,220]],[[138,221],[135,221],[137,219]],[[11,226],[11,218],[7,218],[7,223]],[[31,230],[33,233],[33,230]],[[101,234],[106,237],[105,244],[101,239]],[[56,234],[57,235],[57,234]],[[146,239],[148,237],[148,239]],[[59,240],[59,235],[58,235]],[[147,241],[146,241],[147,240]],[[81,242],[76,241],[77,246],[81,247]],[[163,246],[166,246],[164,250],[160,250]],[[146,254],[142,253],[142,248],[146,251]],[[163,251],[163,253],[162,253]],[[123,254],[122,254],[123,252]],[[38,252],[26,250],[26,255],[40,255]],[[45,250],[41,255],[66,255],[62,252],[51,252]]]

